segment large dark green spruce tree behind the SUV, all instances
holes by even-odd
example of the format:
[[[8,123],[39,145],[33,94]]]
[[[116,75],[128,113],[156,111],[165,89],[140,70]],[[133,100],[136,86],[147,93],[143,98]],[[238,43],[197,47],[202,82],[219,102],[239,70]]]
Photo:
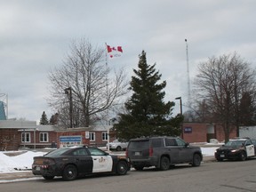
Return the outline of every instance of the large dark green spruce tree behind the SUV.
[[[154,135],[180,135],[182,116],[172,118],[174,102],[164,103],[163,91],[166,82],[161,79],[156,64],[147,64],[146,52],[139,56],[139,69],[133,69],[131,87],[132,97],[124,104],[125,114],[119,114],[120,121],[114,124],[116,136],[130,140]]]

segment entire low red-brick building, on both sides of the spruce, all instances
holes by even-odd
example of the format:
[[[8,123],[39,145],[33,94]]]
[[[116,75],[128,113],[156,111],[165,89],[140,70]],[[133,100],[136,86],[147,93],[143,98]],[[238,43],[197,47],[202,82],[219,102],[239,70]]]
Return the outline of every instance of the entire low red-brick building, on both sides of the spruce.
[[[106,146],[115,137],[109,137],[112,125],[95,124],[90,127],[59,129],[52,125],[36,125],[36,121],[0,121],[0,150],[18,148],[61,148],[72,145]],[[183,123],[181,138],[187,142],[225,140],[223,129],[218,124]],[[255,129],[254,129],[255,130]],[[246,131],[246,130],[245,130]],[[229,138],[236,137],[232,129]]]

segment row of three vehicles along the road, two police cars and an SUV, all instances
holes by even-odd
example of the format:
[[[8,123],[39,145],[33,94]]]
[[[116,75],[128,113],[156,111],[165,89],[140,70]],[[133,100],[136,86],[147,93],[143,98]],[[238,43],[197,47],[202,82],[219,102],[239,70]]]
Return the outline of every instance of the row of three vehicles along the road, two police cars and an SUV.
[[[215,152],[218,161],[256,156],[256,140],[229,140]],[[151,137],[132,139],[126,146],[125,156],[109,155],[100,148],[58,148],[44,156],[35,156],[32,172],[45,180],[61,176],[63,180],[75,180],[82,175],[114,173],[124,175],[131,166],[135,170],[155,166],[161,171],[175,164],[200,166],[203,159],[200,147],[190,146],[179,137]]]

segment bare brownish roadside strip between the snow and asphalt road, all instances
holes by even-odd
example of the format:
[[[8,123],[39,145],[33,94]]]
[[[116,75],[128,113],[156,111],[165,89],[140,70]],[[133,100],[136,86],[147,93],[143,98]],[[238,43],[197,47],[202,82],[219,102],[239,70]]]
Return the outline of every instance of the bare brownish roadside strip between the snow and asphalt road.
[[[215,161],[214,156],[203,156],[203,162],[213,162]],[[24,180],[42,178],[41,176],[35,176],[31,171],[20,171],[20,172],[0,172],[0,183],[9,182],[12,180]]]

